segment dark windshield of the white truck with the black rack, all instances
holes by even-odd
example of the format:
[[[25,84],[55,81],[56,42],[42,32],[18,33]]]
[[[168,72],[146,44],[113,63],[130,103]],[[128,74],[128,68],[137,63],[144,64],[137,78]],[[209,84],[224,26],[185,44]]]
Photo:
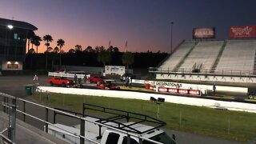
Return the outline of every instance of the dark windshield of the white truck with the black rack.
[[[176,142],[169,137],[169,135],[167,135],[166,133],[162,133],[162,134],[158,134],[155,135],[154,137],[150,138],[156,142],[162,142],[164,144],[176,144]],[[147,142],[147,141],[143,141],[143,144],[154,144],[153,142]]]

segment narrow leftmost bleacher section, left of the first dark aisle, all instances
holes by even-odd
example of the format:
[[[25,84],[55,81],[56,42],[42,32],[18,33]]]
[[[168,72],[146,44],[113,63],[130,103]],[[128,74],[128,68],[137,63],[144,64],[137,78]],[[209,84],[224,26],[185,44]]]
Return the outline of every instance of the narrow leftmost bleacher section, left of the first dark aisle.
[[[168,59],[166,59],[165,62],[162,63],[162,66],[160,66],[163,69],[170,69],[173,70],[176,65],[178,65],[178,62],[182,61],[184,56],[190,51],[190,49],[194,46],[194,41],[186,41],[183,42],[181,46],[178,47],[177,50],[174,51],[174,54],[172,54]]]

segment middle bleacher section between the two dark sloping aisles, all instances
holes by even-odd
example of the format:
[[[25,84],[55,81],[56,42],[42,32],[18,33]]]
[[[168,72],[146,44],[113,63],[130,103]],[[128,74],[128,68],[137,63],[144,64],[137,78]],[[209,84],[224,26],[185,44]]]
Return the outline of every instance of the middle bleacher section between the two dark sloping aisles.
[[[184,60],[180,69],[192,70],[193,66],[203,70],[210,70],[213,66],[224,41],[202,41],[194,47],[190,55]]]

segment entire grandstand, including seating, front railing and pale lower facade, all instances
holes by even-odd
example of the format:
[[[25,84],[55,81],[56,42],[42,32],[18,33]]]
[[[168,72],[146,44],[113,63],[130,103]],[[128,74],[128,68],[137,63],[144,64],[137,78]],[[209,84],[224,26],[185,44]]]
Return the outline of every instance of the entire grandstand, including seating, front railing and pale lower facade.
[[[216,81],[216,75],[230,79],[255,77],[256,83],[255,54],[256,39],[184,41],[160,66],[151,67],[149,72],[162,79],[170,79],[172,75],[177,77],[177,74],[182,74],[179,79],[186,80],[189,79],[186,74],[190,77],[204,75],[201,79],[206,81]]]

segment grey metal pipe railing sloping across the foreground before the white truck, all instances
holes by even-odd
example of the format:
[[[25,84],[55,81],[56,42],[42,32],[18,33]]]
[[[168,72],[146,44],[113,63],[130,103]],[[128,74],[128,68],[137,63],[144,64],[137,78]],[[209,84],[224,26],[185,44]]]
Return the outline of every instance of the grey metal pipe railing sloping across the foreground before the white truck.
[[[120,129],[114,128],[112,126],[107,126],[105,124],[102,124],[101,122],[94,122],[94,121],[88,120],[88,119],[84,118],[83,116],[82,117],[78,116],[77,114],[70,114],[69,112],[54,109],[54,108],[51,108],[51,107],[48,107],[48,106],[43,106],[43,105],[35,103],[35,102],[30,102],[26,99],[17,98],[17,97],[8,95],[8,94],[3,94],[3,93],[0,93],[0,97],[4,98],[4,102],[2,102],[3,111],[6,112],[7,110],[10,110],[10,112],[11,112],[10,117],[9,117],[9,118],[11,118],[9,120],[9,122],[10,122],[9,127],[6,128],[5,130],[2,130],[2,133],[5,132],[6,130],[8,131],[8,138],[6,138],[5,135],[0,133],[0,137],[2,137],[2,141],[5,141],[6,143],[15,143],[15,130],[16,130],[16,121],[15,121],[15,119],[16,119],[16,113],[17,112],[22,114],[22,116],[23,116],[22,119],[23,119],[24,122],[26,122],[26,117],[30,117],[30,118],[34,118],[34,119],[38,120],[39,122],[45,123],[46,133],[48,133],[48,126],[49,125],[57,127],[60,130],[64,130],[64,129],[62,129],[62,127],[56,126],[56,125],[54,125],[54,123],[49,122],[49,114],[50,114],[50,110],[52,110],[52,111],[54,111],[54,114],[58,113],[58,114],[69,116],[70,118],[76,118],[76,119],[80,120],[80,126],[81,126],[80,127],[80,134],[72,133],[68,130],[64,130],[64,131],[66,131],[69,134],[72,134],[76,138],[80,138],[80,143],[81,144],[84,144],[85,140],[99,144],[99,142],[95,142],[94,140],[91,140],[91,139],[88,139],[88,138],[85,137],[85,122],[91,122],[91,123],[94,123],[95,125],[104,126],[104,127],[108,128],[110,130],[115,130],[119,133],[126,134],[128,139],[130,138],[130,136],[133,136],[134,138],[139,139],[140,144],[142,144],[142,141],[144,141],[144,140],[148,141],[148,142],[155,143],[155,144],[161,144],[161,142],[155,142],[155,141],[153,141],[149,138],[143,138],[141,136],[141,134],[134,134],[134,133],[128,132],[126,130],[120,130]],[[16,109],[17,108],[17,101],[22,102],[22,106],[19,106],[19,108],[22,107],[22,110],[17,110]],[[33,114],[28,114],[26,112],[26,103],[45,109],[45,119],[38,118],[38,117],[34,116]],[[130,140],[127,141],[127,144],[129,144],[129,143],[130,143]]]

